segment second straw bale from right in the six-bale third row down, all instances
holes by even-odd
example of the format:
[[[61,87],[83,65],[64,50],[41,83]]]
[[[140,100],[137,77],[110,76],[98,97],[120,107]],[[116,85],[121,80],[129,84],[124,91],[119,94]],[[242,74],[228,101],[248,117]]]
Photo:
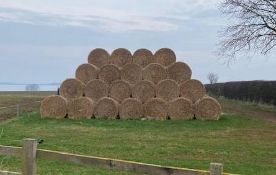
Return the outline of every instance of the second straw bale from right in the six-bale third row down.
[[[165,101],[172,101],[179,97],[179,87],[176,81],[165,79],[156,85],[156,97]]]

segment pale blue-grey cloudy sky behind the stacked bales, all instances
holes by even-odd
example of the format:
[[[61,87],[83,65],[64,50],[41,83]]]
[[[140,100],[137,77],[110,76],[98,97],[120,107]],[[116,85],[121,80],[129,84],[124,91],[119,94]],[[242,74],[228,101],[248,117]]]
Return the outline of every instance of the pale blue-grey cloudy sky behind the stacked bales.
[[[216,55],[228,19],[218,0],[0,0],[0,82],[52,83],[74,77],[91,49],[134,52],[172,48],[192,77],[206,83],[275,80],[276,54],[238,57],[230,67]]]

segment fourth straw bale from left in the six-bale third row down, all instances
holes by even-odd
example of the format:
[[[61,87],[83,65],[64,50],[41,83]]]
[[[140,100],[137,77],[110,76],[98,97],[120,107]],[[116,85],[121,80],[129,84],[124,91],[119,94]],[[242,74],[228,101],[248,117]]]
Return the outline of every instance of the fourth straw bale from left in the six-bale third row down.
[[[155,86],[147,80],[139,81],[132,88],[132,97],[139,99],[142,103],[155,97]]]

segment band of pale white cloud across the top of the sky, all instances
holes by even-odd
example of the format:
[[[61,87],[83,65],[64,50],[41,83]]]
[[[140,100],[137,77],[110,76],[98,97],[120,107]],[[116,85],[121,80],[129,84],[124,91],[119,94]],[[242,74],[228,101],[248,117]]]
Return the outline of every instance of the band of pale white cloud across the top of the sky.
[[[175,31],[179,20],[213,8],[217,0],[0,0],[0,20],[89,27],[113,32]]]

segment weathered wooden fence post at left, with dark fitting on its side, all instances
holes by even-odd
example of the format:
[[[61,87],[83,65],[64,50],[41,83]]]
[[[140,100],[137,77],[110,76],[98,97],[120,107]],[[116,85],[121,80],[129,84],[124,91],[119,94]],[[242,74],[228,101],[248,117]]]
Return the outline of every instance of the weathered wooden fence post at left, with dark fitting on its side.
[[[36,139],[24,139],[22,149],[22,175],[36,175]]]

